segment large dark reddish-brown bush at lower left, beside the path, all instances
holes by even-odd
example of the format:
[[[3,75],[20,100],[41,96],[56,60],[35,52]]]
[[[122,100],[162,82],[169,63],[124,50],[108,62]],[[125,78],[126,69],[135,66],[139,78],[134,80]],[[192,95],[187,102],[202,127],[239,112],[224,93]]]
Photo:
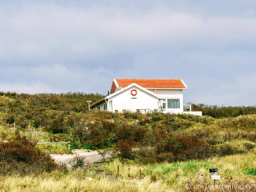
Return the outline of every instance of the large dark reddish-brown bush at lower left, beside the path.
[[[0,143],[0,174],[38,174],[51,172],[58,165],[49,155],[22,138],[12,138]]]

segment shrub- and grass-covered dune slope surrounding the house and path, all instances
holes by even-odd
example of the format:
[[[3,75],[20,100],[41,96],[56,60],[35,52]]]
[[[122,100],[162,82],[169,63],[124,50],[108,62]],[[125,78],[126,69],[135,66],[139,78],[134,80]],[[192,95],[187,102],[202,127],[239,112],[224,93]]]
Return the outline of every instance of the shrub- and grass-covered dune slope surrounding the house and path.
[[[215,167],[220,182],[256,181],[256,106],[192,104],[207,114],[202,117],[89,111],[86,100],[102,96],[0,92],[0,190],[183,190],[200,183],[198,174],[211,183],[208,169]],[[60,141],[98,150],[107,175],[82,156],[70,161],[70,169],[56,164],[48,154],[72,153],[66,144],[37,144]]]

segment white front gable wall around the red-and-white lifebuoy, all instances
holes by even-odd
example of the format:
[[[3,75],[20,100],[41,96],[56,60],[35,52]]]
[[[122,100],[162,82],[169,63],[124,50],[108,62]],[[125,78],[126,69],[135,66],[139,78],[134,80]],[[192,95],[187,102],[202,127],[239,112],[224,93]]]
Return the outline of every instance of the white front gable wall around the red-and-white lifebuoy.
[[[132,89],[137,90],[136,96],[131,95]],[[159,99],[145,92],[144,90],[137,88],[136,86],[132,86],[124,92],[120,92],[120,94],[116,94],[115,96],[109,98],[108,104],[110,101],[112,101],[112,112],[115,110],[122,112],[124,109],[132,112],[136,112],[137,109],[147,109],[152,111],[154,109],[159,109]],[[108,109],[110,109],[109,106]]]

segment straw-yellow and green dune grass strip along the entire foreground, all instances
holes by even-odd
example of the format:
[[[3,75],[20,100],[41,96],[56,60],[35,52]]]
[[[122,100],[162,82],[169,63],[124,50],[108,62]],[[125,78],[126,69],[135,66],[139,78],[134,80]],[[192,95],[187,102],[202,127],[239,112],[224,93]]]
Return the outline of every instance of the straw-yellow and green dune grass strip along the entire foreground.
[[[119,176],[117,176],[119,166]],[[95,172],[69,171],[67,174],[51,172],[37,176],[0,176],[0,191],[5,192],[164,192],[185,191],[186,183],[199,184],[198,174],[204,175],[204,183],[213,184],[209,179],[209,168],[218,168],[220,181],[216,183],[256,182],[256,151],[208,160],[139,165],[133,161],[125,163],[115,159],[104,164],[112,176]],[[128,177],[130,168],[130,177]],[[142,179],[139,180],[139,169]],[[152,171],[152,176],[150,175]],[[164,173],[164,178],[163,178]],[[178,177],[177,177],[178,175]],[[190,175],[192,178],[190,179]]]

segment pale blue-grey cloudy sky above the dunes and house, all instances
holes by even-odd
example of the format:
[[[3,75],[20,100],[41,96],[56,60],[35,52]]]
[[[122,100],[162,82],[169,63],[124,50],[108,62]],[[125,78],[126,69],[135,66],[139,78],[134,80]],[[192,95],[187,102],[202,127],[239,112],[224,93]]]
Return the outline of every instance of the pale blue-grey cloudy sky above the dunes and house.
[[[0,91],[183,79],[184,103],[256,105],[255,0],[0,0]]]

